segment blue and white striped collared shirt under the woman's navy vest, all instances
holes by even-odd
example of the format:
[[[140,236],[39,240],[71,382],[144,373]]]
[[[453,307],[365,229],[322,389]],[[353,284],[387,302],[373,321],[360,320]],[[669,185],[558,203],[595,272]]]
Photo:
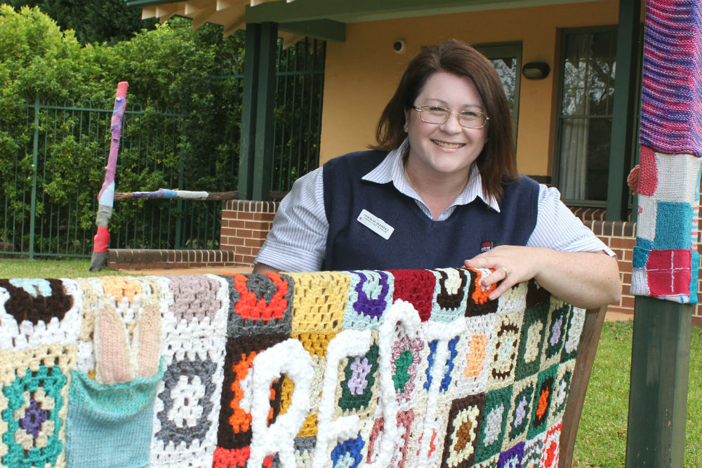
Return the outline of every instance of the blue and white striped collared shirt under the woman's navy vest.
[[[404,175],[402,154],[405,145],[388,153],[383,162],[363,179],[378,184],[392,182],[402,194],[411,197],[432,218],[431,210],[420,199]],[[499,212],[500,206],[482,191],[482,179],[475,163],[470,170],[468,184],[449,208],[437,220],[449,218],[456,206],[467,205],[476,198]],[[273,220],[273,228],[261,247],[256,263],[263,263],[284,272],[315,272],[322,267],[326,250],[329,222],[324,211],[324,182],[322,168],[303,175],[293,184],[283,199]],[[527,246],[546,247],[564,252],[612,252],[560,200],[555,187],[541,184],[538,192],[536,227]]]

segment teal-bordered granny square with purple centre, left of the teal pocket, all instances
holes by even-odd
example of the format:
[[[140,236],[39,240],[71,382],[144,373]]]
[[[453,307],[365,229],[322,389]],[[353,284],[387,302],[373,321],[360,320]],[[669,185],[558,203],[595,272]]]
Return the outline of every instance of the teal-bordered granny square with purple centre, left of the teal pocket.
[[[24,377],[2,389],[8,399],[2,410],[2,420],[8,425],[2,435],[8,451],[2,457],[6,467],[43,467],[56,463],[64,447],[58,434],[62,420],[59,417],[65,405],[61,389],[67,377],[58,366],[39,366],[32,372],[27,369]]]

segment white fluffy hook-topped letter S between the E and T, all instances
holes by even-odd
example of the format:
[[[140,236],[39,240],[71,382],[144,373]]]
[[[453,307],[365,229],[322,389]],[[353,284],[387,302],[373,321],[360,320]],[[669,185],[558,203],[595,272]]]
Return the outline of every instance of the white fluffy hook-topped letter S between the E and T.
[[[417,310],[409,302],[398,299],[385,313],[385,320],[378,331],[378,352],[380,354],[378,375],[380,375],[380,404],[383,406],[383,434],[379,436],[380,450],[376,461],[366,464],[368,468],[388,467],[397,441],[397,400],[395,384],[392,382],[392,344],[397,337],[397,328],[404,328],[404,334],[413,340],[417,337],[421,321]]]

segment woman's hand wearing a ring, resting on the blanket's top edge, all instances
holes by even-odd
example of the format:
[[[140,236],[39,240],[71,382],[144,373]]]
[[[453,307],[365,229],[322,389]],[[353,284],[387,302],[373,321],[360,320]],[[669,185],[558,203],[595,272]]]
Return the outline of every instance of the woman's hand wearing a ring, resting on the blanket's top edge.
[[[499,283],[488,296],[491,300],[500,297],[506,290],[522,281],[529,281],[538,272],[538,254],[535,248],[521,246],[497,246],[487,252],[465,260],[467,268],[489,268],[495,271],[485,276],[480,283],[489,287]]]

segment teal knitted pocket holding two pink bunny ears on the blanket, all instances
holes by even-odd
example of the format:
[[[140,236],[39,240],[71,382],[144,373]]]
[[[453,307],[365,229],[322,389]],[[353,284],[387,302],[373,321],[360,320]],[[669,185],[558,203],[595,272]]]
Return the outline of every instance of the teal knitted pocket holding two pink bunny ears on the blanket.
[[[154,398],[163,366],[153,377],[100,385],[71,371],[66,452],[72,468],[140,468],[149,464]]]

